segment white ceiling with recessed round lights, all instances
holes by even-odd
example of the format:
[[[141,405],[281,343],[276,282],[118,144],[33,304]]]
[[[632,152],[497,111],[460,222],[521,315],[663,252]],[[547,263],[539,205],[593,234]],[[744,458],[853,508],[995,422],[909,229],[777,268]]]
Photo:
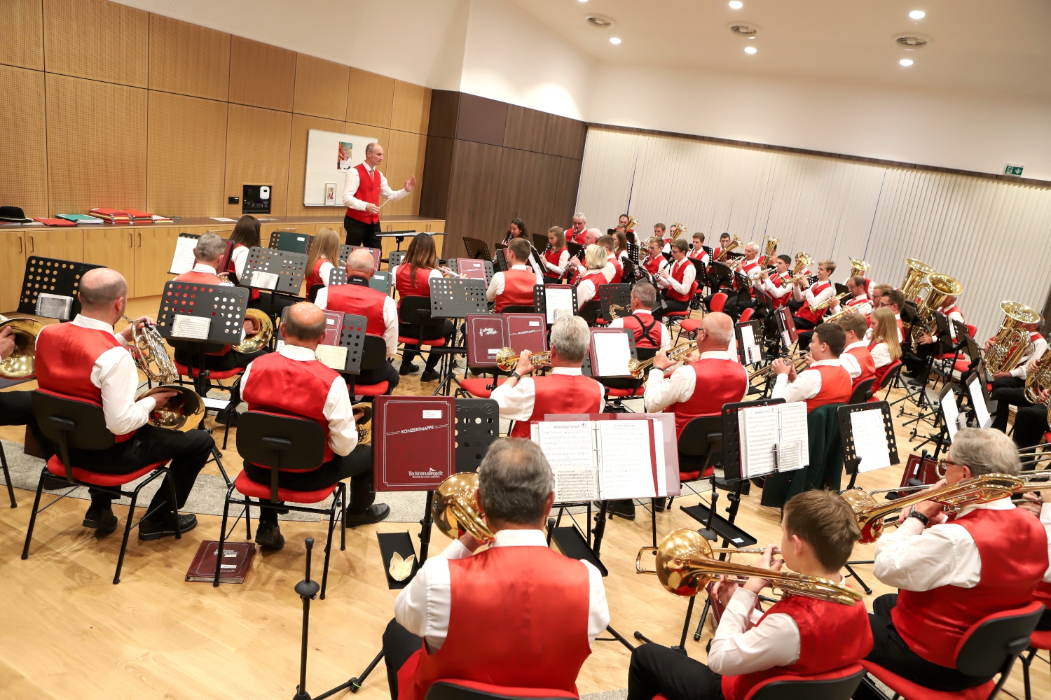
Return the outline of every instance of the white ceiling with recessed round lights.
[[[1048,0],[512,1],[602,62],[1051,98]],[[927,16],[912,20],[913,9]],[[615,24],[592,26],[589,14]],[[737,22],[758,26],[757,38],[731,33]],[[929,43],[907,51],[901,34]],[[748,44],[758,52],[745,54]]]

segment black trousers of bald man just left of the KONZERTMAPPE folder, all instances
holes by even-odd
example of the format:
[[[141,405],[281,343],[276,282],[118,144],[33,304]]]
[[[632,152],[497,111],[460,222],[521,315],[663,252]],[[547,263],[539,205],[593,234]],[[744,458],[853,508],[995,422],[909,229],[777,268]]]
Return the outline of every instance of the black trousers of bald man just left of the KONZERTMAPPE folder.
[[[270,483],[270,470],[257,467],[247,460],[245,473],[259,484]],[[364,513],[376,500],[376,493],[372,490],[372,445],[358,445],[350,454],[336,454],[310,471],[282,471],[277,474],[277,486],[293,491],[316,491],[345,479],[350,480],[350,505],[347,510],[351,513]],[[276,524],[279,512],[281,509],[261,508],[260,521]]]

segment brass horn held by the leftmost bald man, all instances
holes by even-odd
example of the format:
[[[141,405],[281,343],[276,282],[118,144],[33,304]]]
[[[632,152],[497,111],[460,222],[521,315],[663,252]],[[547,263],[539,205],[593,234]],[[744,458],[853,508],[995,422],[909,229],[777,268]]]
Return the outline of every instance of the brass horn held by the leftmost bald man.
[[[158,391],[174,391],[179,395],[168,399],[160,408],[154,408],[147,422],[157,428],[180,432],[195,428],[204,418],[204,401],[193,389],[174,383],[179,380],[179,370],[165,349],[161,334],[149,324],[143,324],[141,328],[137,328],[135,321],[127,316],[124,317],[124,320],[131,324],[133,345],[133,347],[129,347],[131,358],[150,382],[160,384],[160,386],[143,391],[138,398],[141,399]],[[153,369],[153,367],[157,368]]]

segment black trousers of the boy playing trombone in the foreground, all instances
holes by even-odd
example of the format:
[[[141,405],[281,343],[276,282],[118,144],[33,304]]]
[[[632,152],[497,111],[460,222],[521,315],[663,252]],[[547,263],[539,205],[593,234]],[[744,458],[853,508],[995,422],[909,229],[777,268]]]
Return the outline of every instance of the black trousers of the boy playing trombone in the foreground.
[[[627,700],[722,698],[722,676],[706,665],[660,644],[642,644],[632,652],[627,666]]]

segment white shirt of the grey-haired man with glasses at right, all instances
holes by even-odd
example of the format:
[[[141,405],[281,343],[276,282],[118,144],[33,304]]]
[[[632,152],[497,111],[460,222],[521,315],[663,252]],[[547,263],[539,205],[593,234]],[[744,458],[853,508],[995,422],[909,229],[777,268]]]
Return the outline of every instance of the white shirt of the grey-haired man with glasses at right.
[[[1013,510],[1014,504],[1010,499],[997,499],[965,506],[960,514],[966,515],[976,509]],[[1040,506],[1040,523],[1051,542],[1051,506],[1048,504]],[[886,531],[875,543],[873,558],[875,577],[887,586],[906,591],[930,591],[943,586],[974,588],[982,579],[977,545],[964,526],[953,523],[924,529],[916,518],[906,517],[901,527]],[[1044,580],[1051,581],[1051,568],[1045,572]]]

